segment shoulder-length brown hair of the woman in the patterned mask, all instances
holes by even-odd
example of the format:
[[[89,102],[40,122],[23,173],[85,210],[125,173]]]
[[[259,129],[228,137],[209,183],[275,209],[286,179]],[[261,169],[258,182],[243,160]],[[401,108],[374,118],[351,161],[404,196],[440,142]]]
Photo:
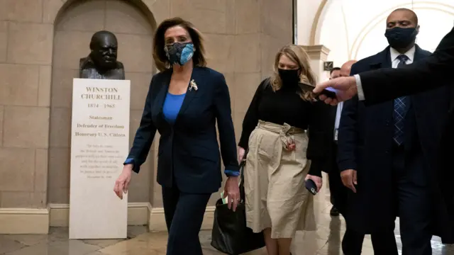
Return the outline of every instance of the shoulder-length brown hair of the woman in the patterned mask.
[[[160,72],[165,71],[166,69],[172,68],[172,65],[169,63],[167,56],[165,55],[165,38],[164,34],[167,29],[180,26],[187,30],[189,36],[191,37],[192,43],[194,44],[194,56],[192,56],[192,61],[194,66],[205,67],[205,48],[204,48],[204,39],[201,33],[196,30],[194,25],[189,21],[185,21],[182,18],[168,18],[165,21],[162,21],[159,26],[157,26],[155,38],[153,38],[153,60],[155,60],[155,65]]]

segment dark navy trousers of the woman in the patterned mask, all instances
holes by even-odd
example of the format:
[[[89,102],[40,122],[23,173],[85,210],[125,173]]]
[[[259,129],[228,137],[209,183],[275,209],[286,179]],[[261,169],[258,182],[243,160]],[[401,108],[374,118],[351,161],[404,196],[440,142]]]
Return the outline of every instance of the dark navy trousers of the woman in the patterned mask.
[[[169,238],[167,255],[203,255],[199,240],[201,223],[211,194],[192,194],[162,187],[165,223]]]

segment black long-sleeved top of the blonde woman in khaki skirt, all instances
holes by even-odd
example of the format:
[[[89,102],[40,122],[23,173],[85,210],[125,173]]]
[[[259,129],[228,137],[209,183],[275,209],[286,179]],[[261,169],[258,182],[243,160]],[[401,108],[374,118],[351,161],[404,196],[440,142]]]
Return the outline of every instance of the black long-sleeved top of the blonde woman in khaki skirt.
[[[286,84],[278,91],[273,91],[270,79],[262,81],[243,120],[243,132],[238,145],[248,149],[250,133],[257,126],[258,120],[279,125],[287,123],[296,128],[309,129],[307,158],[312,159],[310,174],[321,176],[322,166],[317,163],[322,162],[314,161],[323,160],[328,142],[331,142],[329,106],[322,102],[304,101],[297,94],[299,90],[298,84]]]

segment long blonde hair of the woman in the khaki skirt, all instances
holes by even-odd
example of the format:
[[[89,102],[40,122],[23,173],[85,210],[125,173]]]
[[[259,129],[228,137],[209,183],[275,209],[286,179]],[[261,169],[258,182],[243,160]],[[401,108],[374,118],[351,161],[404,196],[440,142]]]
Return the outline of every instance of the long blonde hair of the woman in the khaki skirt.
[[[292,60],[292,62],[295,62],[298,65],[299,70],[301,71],[301,74],[299,75],[299,81],[301,83],[316,86],[316,76],[311,69],[311,65],[309,64],[309,55],[307,55],[303,47],[289,44],[282,47],[276,54],[274,66],[275,72],[271,77],[271,86],[273,91],[278,91],[282,88],[282,80],[279,77],[279,59],[282,55],[287,56],[289,60]],[[303,89],[301,89],[298,94],[304,101],[316,100],[316,96],[311,91],[303,91]]]

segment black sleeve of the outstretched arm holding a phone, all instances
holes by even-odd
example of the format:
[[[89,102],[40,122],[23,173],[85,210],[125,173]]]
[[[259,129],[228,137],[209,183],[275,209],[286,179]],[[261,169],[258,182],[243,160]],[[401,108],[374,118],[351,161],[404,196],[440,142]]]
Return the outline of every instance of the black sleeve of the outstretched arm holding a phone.
[[[360,74],[365,103],[374,104],[416,94],[453,81],[454,28],[429,57],[399,69],[379,69]],[[453,82],[450,82],[453,84]]]

